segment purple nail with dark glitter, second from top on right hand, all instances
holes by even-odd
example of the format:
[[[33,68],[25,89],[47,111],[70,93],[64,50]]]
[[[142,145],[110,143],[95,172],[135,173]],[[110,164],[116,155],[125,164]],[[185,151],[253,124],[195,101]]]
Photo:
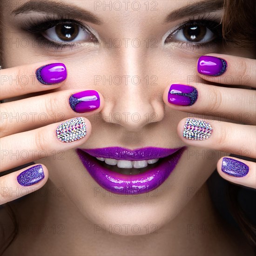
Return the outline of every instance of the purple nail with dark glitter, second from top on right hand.
[[[191,106],[197,99],[197,90],[192,86],[183,84],[172,84],[168,93],[168,102],[180,105]]]

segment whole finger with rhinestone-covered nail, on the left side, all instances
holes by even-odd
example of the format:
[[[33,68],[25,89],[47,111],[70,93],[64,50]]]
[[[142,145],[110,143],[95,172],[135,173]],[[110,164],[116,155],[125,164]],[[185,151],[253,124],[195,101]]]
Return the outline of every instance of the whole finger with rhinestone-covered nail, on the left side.
[[[1,138],[0,171],[53,156],[53,152],[75,148],[87,141],[90,133],[91,124],[88,119],[76,117],[63,123]]]

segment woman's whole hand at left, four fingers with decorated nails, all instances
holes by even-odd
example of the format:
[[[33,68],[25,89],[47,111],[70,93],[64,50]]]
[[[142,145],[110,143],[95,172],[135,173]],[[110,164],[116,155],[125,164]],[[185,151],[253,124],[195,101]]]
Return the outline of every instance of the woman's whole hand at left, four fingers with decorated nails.
[[[66,67],[58,61],[2,69],[0,100],[53,90],[61,87],[66,80]],[[91,108],[93,104],[88,107],[88,99],[81,100],[82,97],[92,95],[95,100],[94,108]],[[62,90],[1,103],[0,171],[53,156],[53,152],[78,147],[88,140],[91,133],[91,124],[84,116],[92,115],[102,107],[102,96],[93,90],[80,94]],[[70,118],[72,119],[64,122],[64,127],[60,121]],[[67,128],[66,135],[63,128]],[[75,133],[75,129],[81,134]],[[40,189],[47,182],[47,178],[48,170],[40,164],[1,176],[0,204]]]

